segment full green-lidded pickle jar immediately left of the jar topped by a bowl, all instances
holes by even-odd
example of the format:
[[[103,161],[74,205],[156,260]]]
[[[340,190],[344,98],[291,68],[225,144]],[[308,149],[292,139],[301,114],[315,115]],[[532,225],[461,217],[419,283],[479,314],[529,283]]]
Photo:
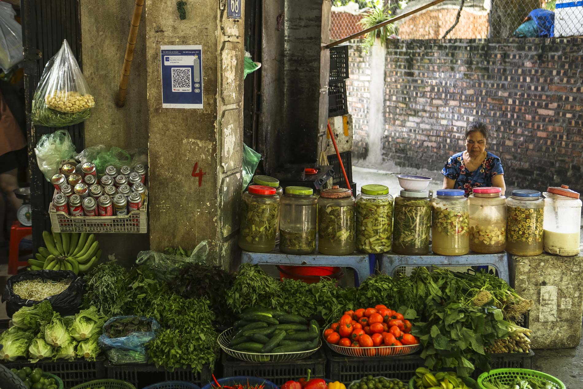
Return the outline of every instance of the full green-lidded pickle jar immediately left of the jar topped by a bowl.
[[[363,185],[356,197],[356,249],[368,254],[391,251],[393,197],[385,185]]]

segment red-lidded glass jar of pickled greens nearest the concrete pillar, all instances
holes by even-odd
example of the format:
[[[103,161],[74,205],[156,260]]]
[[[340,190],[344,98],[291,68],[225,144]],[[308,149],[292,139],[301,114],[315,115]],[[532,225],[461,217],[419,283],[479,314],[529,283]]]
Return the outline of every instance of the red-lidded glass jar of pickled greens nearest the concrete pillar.
[[[266,253],[275,248],[279,220],[279,196],[275,188],[250,185],[241,202],[239,247]]]

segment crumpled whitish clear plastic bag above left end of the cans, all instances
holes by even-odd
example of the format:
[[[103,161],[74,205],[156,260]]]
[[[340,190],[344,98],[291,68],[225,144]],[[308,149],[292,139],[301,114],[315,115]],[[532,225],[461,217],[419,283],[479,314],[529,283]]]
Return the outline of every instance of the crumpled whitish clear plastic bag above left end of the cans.
[[[69,132],[59,129],[41,136],[34,153],[37,156],[38,169],[43,172],[47,181],[51,181],[52,176],[59,173],[59,162],[75,155],[75,146]]]

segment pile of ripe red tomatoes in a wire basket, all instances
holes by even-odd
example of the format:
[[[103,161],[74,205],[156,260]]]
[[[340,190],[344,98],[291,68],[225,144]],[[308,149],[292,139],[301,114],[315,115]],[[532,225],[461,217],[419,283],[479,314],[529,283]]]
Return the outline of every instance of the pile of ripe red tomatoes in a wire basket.
[[[387,348],[419,344],[419,339],[410,334],[411,328],[411,322],[401,313],[377,305],[346,311],[338,323],[324,331],[324,339],[329,344],[343,347],[384,348],[373,355],[391,355]]]

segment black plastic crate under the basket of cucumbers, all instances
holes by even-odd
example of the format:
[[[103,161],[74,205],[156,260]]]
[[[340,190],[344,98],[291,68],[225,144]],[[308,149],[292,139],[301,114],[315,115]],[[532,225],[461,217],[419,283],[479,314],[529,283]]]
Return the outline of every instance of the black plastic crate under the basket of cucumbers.
[[[282,386],[289,380],[307,377],[308,369],[311,370],[310,377],[325,378],[326,358],[322,353],[322,348],[309,358],[289,360],[287,362],[245,362],[223,353],[223,376],[261,377],[277,386]]]

